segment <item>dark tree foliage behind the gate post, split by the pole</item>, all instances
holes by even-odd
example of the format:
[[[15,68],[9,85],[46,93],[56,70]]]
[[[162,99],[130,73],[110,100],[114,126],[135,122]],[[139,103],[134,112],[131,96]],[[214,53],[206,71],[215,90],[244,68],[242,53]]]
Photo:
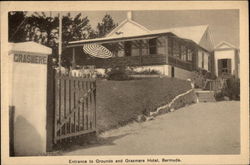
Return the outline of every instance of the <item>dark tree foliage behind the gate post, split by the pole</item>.
[[[88,17],[81,13],[72,17],[70,13],[62,17],[63,48],[69,41],[89,38],[94,32]],[[44,12],[34,12],[27,16],[24,12],[9,13],[9,41],[35,41],[53,49],[58,47],[59,19],[58,16],[47,16]]]

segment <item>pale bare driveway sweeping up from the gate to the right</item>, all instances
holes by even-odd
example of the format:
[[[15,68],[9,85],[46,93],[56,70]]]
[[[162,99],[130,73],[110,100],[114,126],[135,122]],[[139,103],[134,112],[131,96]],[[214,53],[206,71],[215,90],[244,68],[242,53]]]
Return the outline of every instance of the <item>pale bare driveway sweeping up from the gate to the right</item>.
[[[193,104],[105,132],[97,144],[64,155],[238,154],[240,102]]]

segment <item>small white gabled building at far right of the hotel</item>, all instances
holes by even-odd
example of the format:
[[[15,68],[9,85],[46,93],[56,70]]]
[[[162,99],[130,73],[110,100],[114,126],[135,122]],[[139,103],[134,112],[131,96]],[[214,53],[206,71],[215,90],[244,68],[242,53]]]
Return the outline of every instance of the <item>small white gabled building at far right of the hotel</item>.
[[[234,75],[240,77],[239,49],[222,41],[214,49],[214,71],[216,76]]]

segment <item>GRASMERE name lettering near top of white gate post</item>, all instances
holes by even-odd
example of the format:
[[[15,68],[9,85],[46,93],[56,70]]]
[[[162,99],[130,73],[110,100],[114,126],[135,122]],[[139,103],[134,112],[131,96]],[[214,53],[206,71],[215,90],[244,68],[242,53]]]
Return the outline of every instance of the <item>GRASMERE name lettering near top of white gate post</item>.
[[[47,64],[47,56],[14,54],[14,62],[32,63],[32,64]]]

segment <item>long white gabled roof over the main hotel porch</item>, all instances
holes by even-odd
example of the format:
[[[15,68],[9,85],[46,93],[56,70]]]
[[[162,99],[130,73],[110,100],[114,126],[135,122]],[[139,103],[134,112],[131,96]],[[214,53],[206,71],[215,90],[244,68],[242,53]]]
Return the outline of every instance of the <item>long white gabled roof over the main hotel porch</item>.
[[[201,47],[204,47],[203,45],[201,45],[201,40],[207,31],[208,31],[208,25],[177,27],[177,28],[150,31],[144,26],[136,23],[135,21],[131,19],[125,19],[119,26],[117,26],[115,29],[113,29],[108,35],[106,35],[103,38],[71,41],[69,42],[69,44],[73,45],[73,44],[94,43],[94,42],[108,42],[111,40],[114,41],[114,40],[122,40],[122,39],[128,39],[128,38],[133,38],[133,37],[143,37],[143,36],[152,36],[152,35],[164,34],[164,33],[173,33],[180,38],[192,40],[193,42],[200,45]]]

